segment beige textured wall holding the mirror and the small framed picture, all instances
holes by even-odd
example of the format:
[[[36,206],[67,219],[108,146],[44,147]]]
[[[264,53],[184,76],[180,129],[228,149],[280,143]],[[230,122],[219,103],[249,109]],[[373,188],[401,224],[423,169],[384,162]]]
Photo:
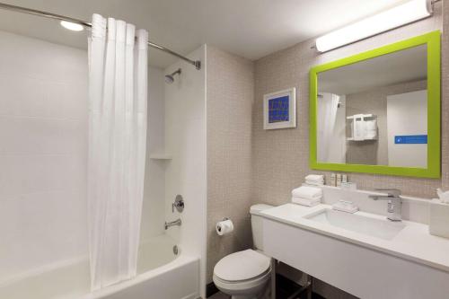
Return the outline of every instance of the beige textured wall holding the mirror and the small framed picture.
[[[445,0],[447,1],[447,0]],[[445,8],[447,12],[447,8]],[[445,14],[448,18],[449,15]],[[447,21],[446,21],[447,22]],[[447,25],[445,25],[447,27]],[[314,40],[299,43],[291,48],[278,51],[256,62],[255,102],[252,121],[252,199],[253,202],[284,204],[289,200],[290,190],[304,180],[309,169],[309,69],[312,66],[348,57],[372,48],[378,48],[394,41],[408,39],[428,31],[442,29],[441,3],[436,4],[435,15],[421,22],[415,22],[400,29],[389,31],[374,38],[362,40],[347,47],[319,54],[313,46]],[[446,31],[447,32],[447,31]],[[446,51],[446,34],[443,37]],[[447,60],[447,58],[446,58]],[[447,62],[444,64],[445,93],[442,98],[445,108],[443,123],[443,157],[448,155],[447,110],[449,110],[449,74]],[[297,128],[263,130],[262,98],[264,93],[276,92],[295,86],[297,92]],[[448,161],[445,158],[443,178],[448,178]],[[328,171],[321,173],[330,175]],[[357,182],[361,189],[400,188],[404,194],[431,198],[442,180],[414,179],[383,175],[349,173],[349,180]],[[447,185],[447,183],[445,182]]]

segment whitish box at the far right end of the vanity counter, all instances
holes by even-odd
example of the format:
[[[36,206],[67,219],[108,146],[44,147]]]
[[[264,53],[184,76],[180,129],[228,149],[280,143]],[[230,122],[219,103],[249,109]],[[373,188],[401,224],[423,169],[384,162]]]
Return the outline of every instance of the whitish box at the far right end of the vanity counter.
[[[442,203],[440,199],[432,199],[429,215],[429,233],[449,238],[449,204]]]

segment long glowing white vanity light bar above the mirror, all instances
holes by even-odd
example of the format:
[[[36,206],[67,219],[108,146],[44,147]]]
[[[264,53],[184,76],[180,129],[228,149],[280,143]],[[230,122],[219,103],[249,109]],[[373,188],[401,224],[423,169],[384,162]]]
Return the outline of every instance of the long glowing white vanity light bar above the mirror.
[[[383,13],[374,14],[362,21],[321,36],[316,40],[316,48],[320,52],[326,52],[422,20],[432,15],[432,5],[437,1],[410,0]]]

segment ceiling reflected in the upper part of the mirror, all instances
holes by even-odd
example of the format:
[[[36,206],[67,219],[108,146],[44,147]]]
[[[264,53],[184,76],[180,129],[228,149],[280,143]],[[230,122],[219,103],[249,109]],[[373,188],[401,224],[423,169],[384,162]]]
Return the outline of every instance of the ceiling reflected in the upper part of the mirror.
[[[318,75],[318,90],[350,94],[421,80],[427,80],[427,45],[322,72]]]

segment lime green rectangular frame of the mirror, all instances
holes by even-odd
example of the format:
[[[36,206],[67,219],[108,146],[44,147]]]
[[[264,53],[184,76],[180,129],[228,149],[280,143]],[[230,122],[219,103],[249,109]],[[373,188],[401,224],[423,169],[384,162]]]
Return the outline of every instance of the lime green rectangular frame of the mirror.
[[[441,177],[441,32],[432,31],[409,40],[401,40],[393,44],[374,48],[351,57],[345,57],[310,70],[310,168],[321,171],[348,171],[385,175],[397,175],[417,178]],[[344,163],[321,163],[317,161],[317,104],[318,104],[318,74],[341,66],[348,66],[366,59],[380,57],[407,48],[427,45],[427,168],[396,167],[387,165],[365,165]]]

